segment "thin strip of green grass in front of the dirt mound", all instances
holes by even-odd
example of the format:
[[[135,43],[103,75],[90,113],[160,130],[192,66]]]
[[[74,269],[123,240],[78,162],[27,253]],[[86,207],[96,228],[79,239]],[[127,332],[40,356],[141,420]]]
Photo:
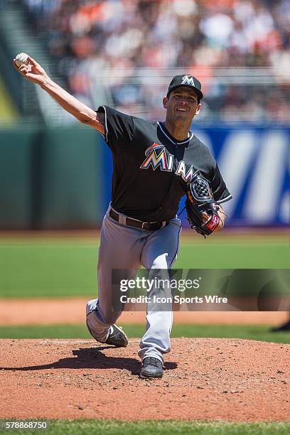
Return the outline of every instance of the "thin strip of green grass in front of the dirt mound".
[[[2,425],[4,421],[1,421]],[[107,421],[107,420],[51,420],[48,429],[25,430],[26,435],[171,435],[171,434],[196,434],[196,435],[286,435],[289,434],[290,423],[259,422],[259,423],[228,423],[225,421]],[[1,431],[9,435],[18,431]]]

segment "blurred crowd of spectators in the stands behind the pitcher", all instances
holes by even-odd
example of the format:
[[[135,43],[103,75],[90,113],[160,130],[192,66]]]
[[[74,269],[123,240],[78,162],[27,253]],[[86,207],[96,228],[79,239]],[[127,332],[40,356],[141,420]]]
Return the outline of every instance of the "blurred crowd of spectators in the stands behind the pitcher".
[[[85,102],[105,96],[125,112],[163,117],[170,74],[161,80],[159,72],[181,68],[205,84],[201,119],[289,122],[289,0],[23,3],[57,60],[58,75]],[[272,78],[247,80],[245,67],[273,69]],[[242,68],[240,83],[219,79],[218,68]],[[101,96],[95,91],[100,84]]]

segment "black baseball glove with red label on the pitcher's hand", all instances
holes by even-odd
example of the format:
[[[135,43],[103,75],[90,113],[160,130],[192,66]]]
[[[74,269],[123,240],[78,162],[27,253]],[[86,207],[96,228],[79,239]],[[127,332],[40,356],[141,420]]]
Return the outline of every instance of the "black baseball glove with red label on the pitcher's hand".
[[[221,219],[210,183],[200,171],[195,172],[193,179],[188,183],[186,196],[186,213],[190,227],[203,237],[210,235],[218,227]]]

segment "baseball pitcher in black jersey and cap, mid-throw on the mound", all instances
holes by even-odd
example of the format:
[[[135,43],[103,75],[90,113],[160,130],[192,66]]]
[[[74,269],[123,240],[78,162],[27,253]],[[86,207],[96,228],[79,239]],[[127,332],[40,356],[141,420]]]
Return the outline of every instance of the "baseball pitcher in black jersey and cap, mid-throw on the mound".
[[[122,269],[123,279],[134,278],[141,266],[151,277],[166,275],[178,254],[181,222],[176,213],[183,195],[190,226],[204,237],[222,229],[220,204],[232,198],[212,154],[190,131],[201,109],[201,84],[189,74],[173,77],[162,101],[165,121],[149,122],[105,105],[90,109],[53,82],[30,56],[20,65],[14,60],[14,66],[76,119],[99,131],[112,151],[112,202],[102,223],[99,293],[87,303],[87,328],[97,341],[125,347],[127,336],[115,325],[124,306],[112,309],[118,290],[112,285],[112,270]],[[159,286],[149,296],[170,294],[170,288]],[[148,304],[139,348],[142,378],[162,377],[172,321],[171,310]]]

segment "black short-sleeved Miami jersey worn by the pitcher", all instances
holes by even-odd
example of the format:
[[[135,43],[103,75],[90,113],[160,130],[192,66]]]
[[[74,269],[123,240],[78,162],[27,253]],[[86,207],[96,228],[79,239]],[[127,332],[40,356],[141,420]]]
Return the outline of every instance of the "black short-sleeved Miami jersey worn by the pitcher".
[[[107,106],[104,139],[112,151],[112,207],[144,222],[174,218],[195,171],[210,181],[217,203],[230,200],[218,165],[191,132],[176,141],[163,123],[132,117]]]

